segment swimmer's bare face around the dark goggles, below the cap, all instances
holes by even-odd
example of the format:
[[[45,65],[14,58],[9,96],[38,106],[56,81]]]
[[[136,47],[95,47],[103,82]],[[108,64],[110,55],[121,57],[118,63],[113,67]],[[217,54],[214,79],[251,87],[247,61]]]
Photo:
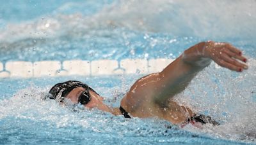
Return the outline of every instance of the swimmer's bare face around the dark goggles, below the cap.
[[[84,92],[84,90],[85,88],[83,87],[74,88],[67,94],[66,98],[77,104],[79,103],[79,96],[81,95],[81,93]],[[88,107],[90,109],[92,109],[93,107],[97,107],[101,109],[101,107],[104,105],[102,102],[104,100],[103,97],[100,97],[100,95],[93,92],[92,90],[89,90],[89,93],[91,100],[87,104],[84,104],[84,107]]]

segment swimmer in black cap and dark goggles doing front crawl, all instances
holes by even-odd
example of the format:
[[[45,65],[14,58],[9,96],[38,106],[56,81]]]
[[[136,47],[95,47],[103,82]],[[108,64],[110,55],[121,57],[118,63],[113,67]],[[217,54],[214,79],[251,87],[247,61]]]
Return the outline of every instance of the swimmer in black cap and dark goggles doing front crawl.
[[[173,96],[186,89],[191,79],[209,66],[212,60],[232,71],[243,72],[248,69],[245,64],[247,59],[242,55],[241,50],[229,43],[207,41],[185,50],[163,71],[138,79],[122,98],[120,107],[107,106],[103,102],[103,97],[80,81],[67,81],[54,85],[49,92],[49,98],[58,102],[70,99],[75,104],[80,103],[88,109],[96,107],[114,115],[124,115],[125,118],[156,117],[180,127],[188,123],[196,127],[205,123],[220,125],[210,116],[197,114],[189,107],[180,106],[173,100]]]

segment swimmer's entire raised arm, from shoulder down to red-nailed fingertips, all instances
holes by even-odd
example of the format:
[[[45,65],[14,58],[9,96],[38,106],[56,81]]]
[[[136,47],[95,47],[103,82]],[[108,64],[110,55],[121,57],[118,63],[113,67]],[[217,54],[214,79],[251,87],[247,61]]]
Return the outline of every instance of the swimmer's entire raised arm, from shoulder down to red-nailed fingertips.
[[[241,72],[248,67],[237,60],[246,62],[241,51],[228,43],[207,41],[186,50],[162,72],[149,74],[138,79],[125,97],[127,107],[158,104],[166,106],[168,99],[182,92],[191,79],[214,60],[222,67]],[[132,111],[132,108],[129,110]]]

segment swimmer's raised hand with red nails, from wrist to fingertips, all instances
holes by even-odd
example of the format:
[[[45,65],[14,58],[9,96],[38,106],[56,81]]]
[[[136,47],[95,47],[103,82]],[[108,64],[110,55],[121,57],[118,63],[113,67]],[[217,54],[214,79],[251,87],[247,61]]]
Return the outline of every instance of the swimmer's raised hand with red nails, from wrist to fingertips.
[[[242,72],[244,69],[248,69],[248,66],[244,64],[247,59],[243,57],[241,50],[229,43],[207,41],[202,50],[202,55],[232,71]]]

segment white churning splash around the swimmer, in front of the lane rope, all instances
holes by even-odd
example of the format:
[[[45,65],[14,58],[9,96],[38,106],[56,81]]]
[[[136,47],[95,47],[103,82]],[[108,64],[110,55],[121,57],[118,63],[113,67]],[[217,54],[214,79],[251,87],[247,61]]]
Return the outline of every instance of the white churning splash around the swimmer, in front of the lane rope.
[[[31,121],[47,123],[53,129],[65,128],[65,132],[70,130],[70,132],[94,135],[104,132],[107,134],[105,137],[110,138],[113,134],[121,138],[125,134],[136,137],[154,137],[155,139],[164,137],[161,141],[172,142],[173,139],[179,139],[180,135],[189,139],[192,135],[194,137],[255,142],[255,122],[253,120],[256,119],[256,104],[255,95],[252,93],[255,91],[255,62],[255,59],[250,59],[248,64],[250,69],[239,74],[227,69],[215,69],[211,64],[193,79],[183,93],[175,97],[180,104],[186,104],[196,112],[208,114],[219,120],[221,125],[218,127],[205,125],[200,130],[188,125],[180,130],[173,128],[167,121],[154,118],[125,120],[122,116],[113,116],[97,109],[89,111],[83,106],[74,107],[71,104],[63,107],[54,100],[43,99],[51,88],[49,86],[46,88],[30,86],[19,90],[13,97],[0,100],[0,120],[15,118],[14,120],[20,122],[17,123],[18,128],[24,127],[22,120],[27,120],[27,123],[31,123]],[[125,76],[120,77],[123,79]],[[129,76],[128,80],[130,81],[123,80],[122,86],[98,87],[95,90],[99,90],[100,94],[106,96],[106,104],[118,107],[120,99],[129,89],[128,86],[137,78],[140,76]],[[169,129],[170,127],[172,129]],[[166,140],[165,137],[171,138]],[[183,142],[184,139],[180,141]]]

